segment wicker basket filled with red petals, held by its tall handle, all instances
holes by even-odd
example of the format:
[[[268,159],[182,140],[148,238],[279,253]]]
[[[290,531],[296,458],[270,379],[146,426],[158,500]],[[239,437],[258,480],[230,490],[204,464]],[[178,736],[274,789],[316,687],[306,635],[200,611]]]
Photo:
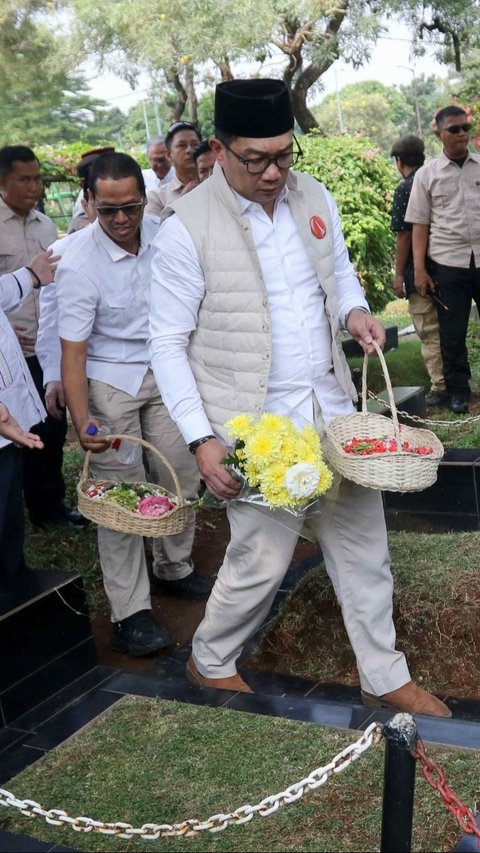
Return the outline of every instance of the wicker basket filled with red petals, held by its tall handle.
[[[353,480],[370,489],[388,492],[420,492],[437,479],[443,445],[437,436],[426,429],[399,424],[397,408],[387,364],[380,347],[374,341],[388,391],[392,417],[377,415],[367,410],[367,363],[365,354],[362,372],[362,411],[333,418],[326,426],[325,450],[328,462],[347,480]],[[366,456],[347,453],[343,445],[352,438],[395,438],[400,448],[387,453]],[[431,447],[428,455],[408,453],[401,449],[402,442],[413,447]]]

